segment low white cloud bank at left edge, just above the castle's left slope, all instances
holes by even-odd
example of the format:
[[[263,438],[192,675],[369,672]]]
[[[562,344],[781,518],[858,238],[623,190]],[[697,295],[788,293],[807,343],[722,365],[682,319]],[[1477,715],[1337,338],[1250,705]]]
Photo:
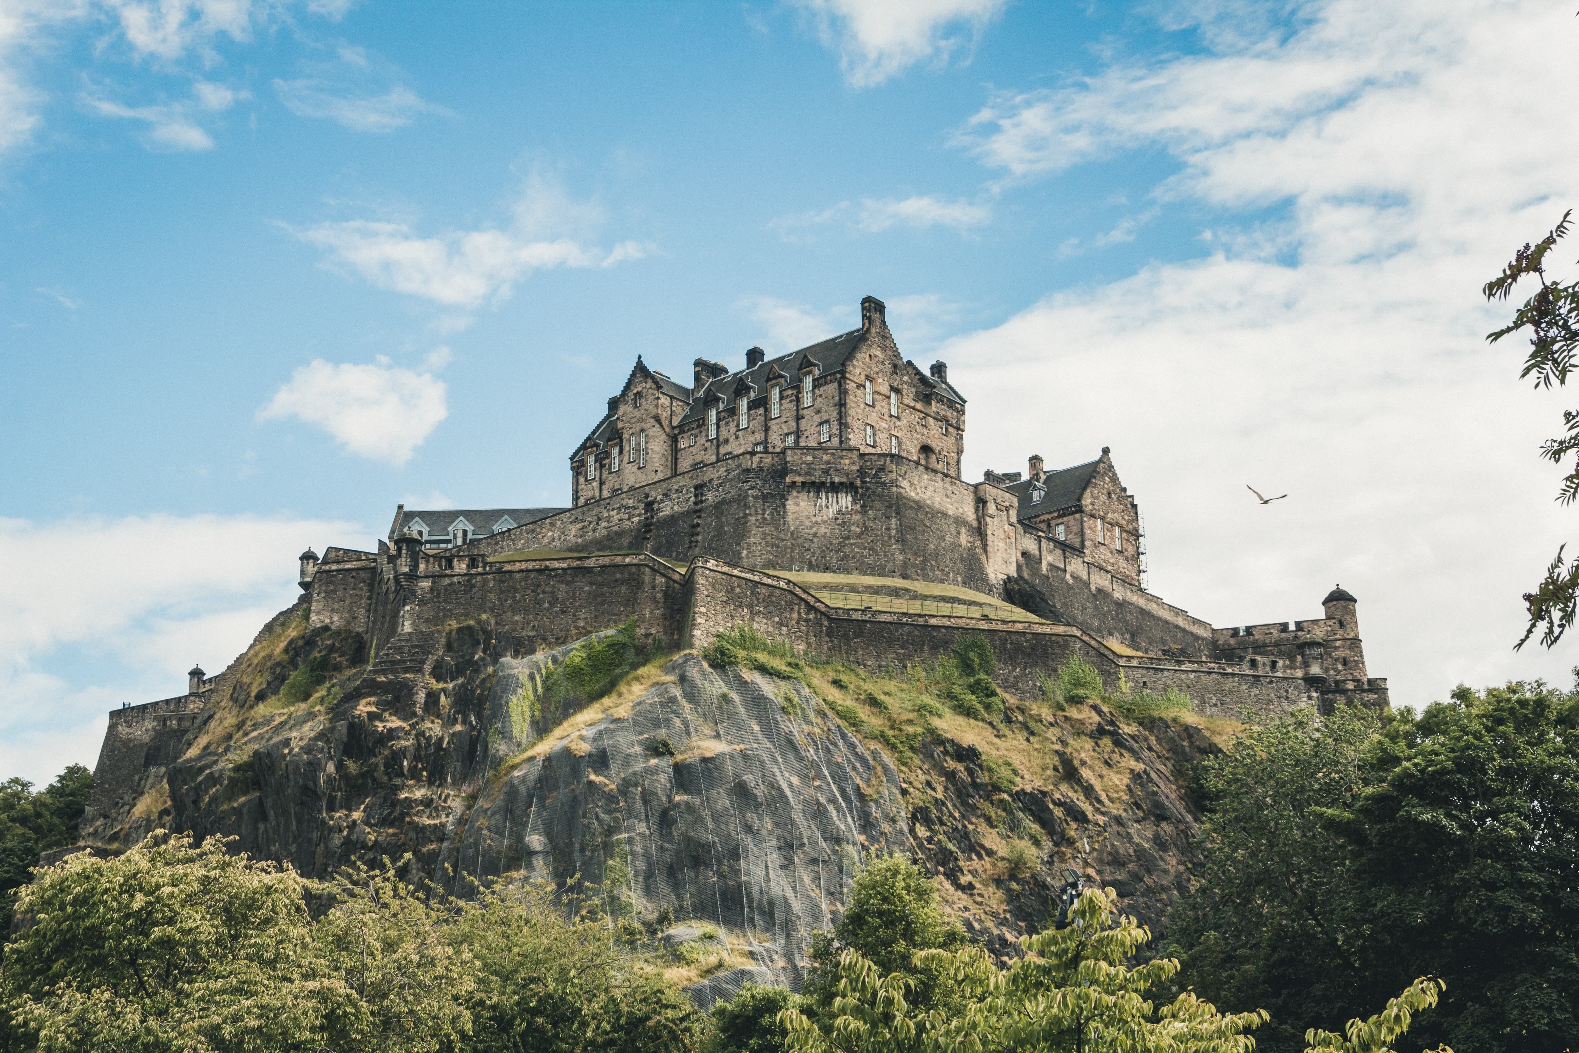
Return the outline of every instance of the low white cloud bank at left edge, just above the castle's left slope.
[[[93,766],[104,714],[180,695],[194,660],[218,673],[295,600],[295,556],[362,529],[264,516],[33,523],[35,559],[0,579],[0,778]],[[82,559],[82,554],[96,554]],[[81,669],[95,661],[93,674]]]

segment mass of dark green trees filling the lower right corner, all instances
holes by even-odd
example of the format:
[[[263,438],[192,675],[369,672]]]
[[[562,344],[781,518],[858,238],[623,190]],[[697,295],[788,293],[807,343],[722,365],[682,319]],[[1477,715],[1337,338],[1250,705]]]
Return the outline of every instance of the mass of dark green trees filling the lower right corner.
[[[1262,1006],[1268,1053],[1413,977],[1421,1039],[1562,1053],[1579,1034],[1579,696],[1510,684],[1415,717],[1298,714],[1202,766],[1181,982]],[[1440,993],[1440,991],[1438,991]]]

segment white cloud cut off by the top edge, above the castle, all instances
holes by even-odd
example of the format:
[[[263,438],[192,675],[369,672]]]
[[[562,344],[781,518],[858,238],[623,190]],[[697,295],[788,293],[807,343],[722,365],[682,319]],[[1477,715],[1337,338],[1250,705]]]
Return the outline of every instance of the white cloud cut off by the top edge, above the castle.
[[[845,81],[873,87],[922,62],[946,65],[974,46],[1007,0],[794,0],[838,52]]]

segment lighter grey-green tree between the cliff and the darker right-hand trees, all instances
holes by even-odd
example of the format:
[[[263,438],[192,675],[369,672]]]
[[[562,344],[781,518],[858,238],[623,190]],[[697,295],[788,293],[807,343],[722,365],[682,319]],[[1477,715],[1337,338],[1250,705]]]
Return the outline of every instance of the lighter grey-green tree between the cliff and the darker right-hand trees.
[[[1300,709],[1197,767],[1200,864],[1168,914],[1167,954],[1203,998],[1268,1009],[1257,1036],[1268,1053],[1298,1050],[1304,1028],[1336,1026],[1397,990],[1366,980],[1352,846],[1320,821],[1322,808],[1355,800],[1382,723],[1364,709]]]

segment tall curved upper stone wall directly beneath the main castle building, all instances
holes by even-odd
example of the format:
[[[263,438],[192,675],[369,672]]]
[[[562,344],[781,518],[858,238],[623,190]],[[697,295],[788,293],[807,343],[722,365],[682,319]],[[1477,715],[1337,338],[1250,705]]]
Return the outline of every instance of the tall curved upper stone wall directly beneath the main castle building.
[[[979,497],[979,489],[1000,500]],[[444,556],[649,551],[690,562],[706,554],[744,567],[911,578],[996,595],[1014,573],[1007,508],[1012,497],[1003,491],[903,456],[794,447],[696,467]],[[423,567],[436,559],[423,556]]]

